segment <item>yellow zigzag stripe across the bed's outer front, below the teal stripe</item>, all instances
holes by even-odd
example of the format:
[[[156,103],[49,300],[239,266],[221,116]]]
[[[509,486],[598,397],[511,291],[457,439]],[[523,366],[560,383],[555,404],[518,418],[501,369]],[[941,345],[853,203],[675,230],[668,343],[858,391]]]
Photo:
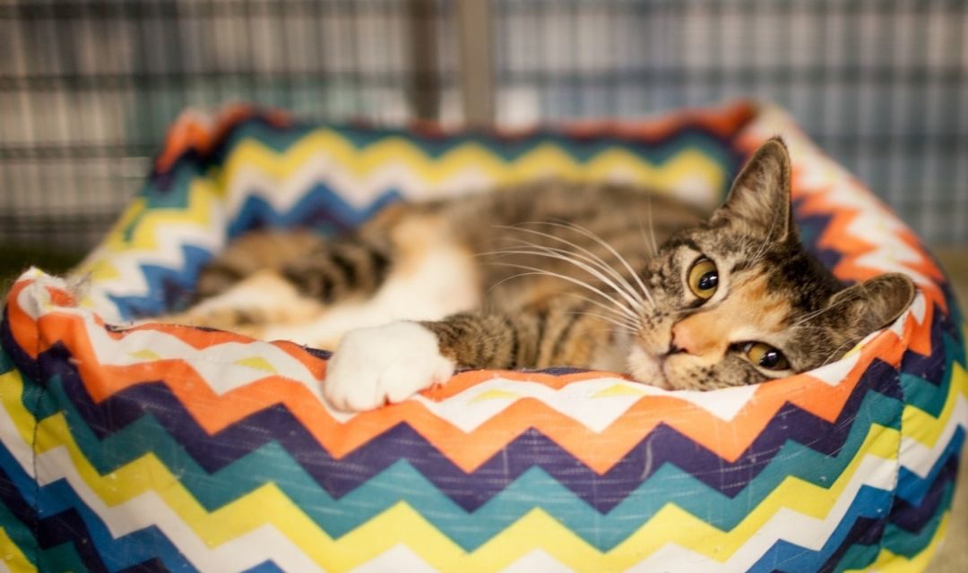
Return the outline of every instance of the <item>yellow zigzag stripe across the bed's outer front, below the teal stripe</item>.
[[[5,386],[12,391],[22,391],[18,376],[8,375],[5,378]],[[24,438],[24,432],[31,426],[33,418],[19,400],[10,399],[13,395],[5,394],[4,408],[21,427],[20,435]],[[29,439],[29,434],[26,437]],[[443,570],[492,571],[499,569],[501,564],[520,559],[535,548],[544,550],[569,566],[584,569],[622,569],[647,558],[666,543],[676,543],[711,559],[725,561],[780,508],[823,519],[856,473],[864,455],[892,459],[897,449],[898,434],[891,428],[872,426],[862,444],[861,453],[855,456],[830,489],[797,478],[787,478],[734,530],[716,530],[670,503],[648,524],[606,554],[601,554],[538,509],[496,535],[477,551],[465,554],[446,535],[402,502],[341,539],[333,540],[272,484],[262,486],[209,513],[153,454],[144,455],[114,473],[100,475],[77,448],[63,415],[42,420],[38,438],[38,450],[41,452],[65,447],[77,473],[107,505],[123,503],[154,491],[209,547],[217,547],[247,531],[271,524],[311,559],[334,571],[359,565],[398,543],[405,543],[421,558]]]

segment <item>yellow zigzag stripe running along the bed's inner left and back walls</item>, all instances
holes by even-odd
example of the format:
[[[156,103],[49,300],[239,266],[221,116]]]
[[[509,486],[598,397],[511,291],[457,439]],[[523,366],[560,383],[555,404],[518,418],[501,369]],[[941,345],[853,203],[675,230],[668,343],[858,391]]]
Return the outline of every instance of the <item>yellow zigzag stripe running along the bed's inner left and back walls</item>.
[[[144,198],[136,198],[125,210],[95,255],[84,261],[77,273],[89,273],[99,282],[117,280],[120,272],[111,254],[120,251],[155,251],[159,238],[186,223],[207,227],[213,210],[225,200],[227,182],[239,171],[257,168],[265,174],[285,180],[296,170],[319,156],[331,158],[357,177],[378,171],[388,165],[404,165],[408,174],[425,186],[442,184],[459,173],[485,174],[494,186],[512,185],[541,177],[558,177],[575,181],[602,181],[620,176],[632,184],[672,189],[683,186],[723,188],[727,174],[714,160],[698,150],[684,149],[661,165],[652,165],[620,147],[603,150],[586,162],[576,161],[555,144],[538,145],[528,153],[505,161],[486,148],[465,143],[439,158],[427,156],[406,138],[389,136],[363,149],[357,149],[346,138],[331,129],[319,129],[293,144],[282,154],[254,139],[246,139],[232,152],[222,168],[212,169],[206,178],[196,178],[189,185],[188,206],[184,209],[147,207]],[[697,182],[699,185],[697,185]],[[714,203],[718,197],[707,197]],[[126,239],[124,229],[134,224],[134,234]]]

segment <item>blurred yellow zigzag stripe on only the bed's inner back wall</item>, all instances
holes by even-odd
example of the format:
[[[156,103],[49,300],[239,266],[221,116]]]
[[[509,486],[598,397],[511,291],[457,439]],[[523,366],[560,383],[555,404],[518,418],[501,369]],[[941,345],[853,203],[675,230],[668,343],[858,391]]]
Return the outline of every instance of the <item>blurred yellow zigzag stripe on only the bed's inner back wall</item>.
[[[465,143],[439,158],[427,156],[403,137],[386,137],[358,149],[339,133],[319,129],[279,154],[260,142],[241,142],[225,163],[221,186],[232,181],[241,169],[256,167],[273,178],[286,179],[320,155],[331,158],[356,177],[365,177],[390,165],[405,165],[415,179],[427,186],[441,184],[470,171],[487,174],[494,185],[555,176],[570,180],[601,181],[617,171],[637,184],[671,188],[683,179],[700,179],[713,189],[724,186],[726,173],[716,161],[698,150],[683,149],[662,165],[652,165],[627,150],[608,148],[586,162],[576,161],[554,144],[536,146],[519,158],[506,161],[486,148]]]

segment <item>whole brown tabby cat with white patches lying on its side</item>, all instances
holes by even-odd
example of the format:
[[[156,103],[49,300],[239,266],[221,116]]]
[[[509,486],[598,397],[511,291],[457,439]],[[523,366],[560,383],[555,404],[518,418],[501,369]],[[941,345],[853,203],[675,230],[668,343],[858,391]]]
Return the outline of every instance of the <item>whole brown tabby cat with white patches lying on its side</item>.
[[[915,296],[900,273],[842,285],[800,242],[790,180],[774,138],[711,214],[634,186],[538,182],[397,205],[331,241],[257,232],[168,320],[335,345],[322,389],[346,411],[457,368],[757,384],[841,358]]]

